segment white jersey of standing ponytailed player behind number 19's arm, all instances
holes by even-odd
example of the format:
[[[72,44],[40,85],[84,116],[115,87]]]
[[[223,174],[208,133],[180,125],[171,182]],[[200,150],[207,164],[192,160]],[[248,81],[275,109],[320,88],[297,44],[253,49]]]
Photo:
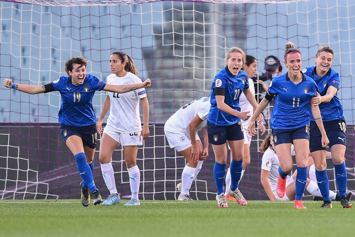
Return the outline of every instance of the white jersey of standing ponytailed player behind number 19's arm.
[[[107,84],[128,85],[142,83],[142,80],[131,72],[126,76],[118,77],[115,74],[107,76]],[[107,119],[107,126],[119,133],[140,132],[142,130],[141,117],[139,113],[139,99],[147,97],[144,88],[119,94],[107,92],[110,97],[110,115]]]

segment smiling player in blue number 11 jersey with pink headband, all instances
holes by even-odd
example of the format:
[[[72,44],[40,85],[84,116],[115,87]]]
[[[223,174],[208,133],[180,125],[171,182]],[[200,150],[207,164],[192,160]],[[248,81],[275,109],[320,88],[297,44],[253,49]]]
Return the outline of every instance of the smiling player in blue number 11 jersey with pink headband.
[[[257,134],[255,120],[275,96],[275,106],[271,115],[271,128],[275,151],[280,161],[276,192],[280,198],[285,195],[286,177],[293,168],[290,150],[291,144],[294,144],[297,165],[294,208],[307,209],[302,204],[302,196],[308,173],[310,111],[321,131],[322,146],[326,147],[329,144],[329,140],[323,127],[321,112],[318,106],[311,104],[311,99],[317,97],[317,85],[313,79],[301,72],[301,52],[294,47],[294,43],[288,42],[285,44],[284,63],[288,72],[272,79],[265,97],[250,119],[248,133],[252,136]],[[318,160],[317,162],[323,162],[323,160]],[[329,189],[325,190],[325,192],[329,192]],[[330,208],[330,206],[328,207]]]

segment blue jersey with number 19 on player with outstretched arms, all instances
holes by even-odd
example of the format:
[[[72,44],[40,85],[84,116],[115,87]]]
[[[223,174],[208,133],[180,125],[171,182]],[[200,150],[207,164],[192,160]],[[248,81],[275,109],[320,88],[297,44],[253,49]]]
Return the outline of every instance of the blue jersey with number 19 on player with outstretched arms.
[[[87,126],[96,123],[92,106],[95,91],[101,91],[106,83],[87,74],[84,83],[75,86],[70,76],[61,76],[52,81],[55,91],[59,91],[62,103],[58,113],[58,122],[69,126]]]

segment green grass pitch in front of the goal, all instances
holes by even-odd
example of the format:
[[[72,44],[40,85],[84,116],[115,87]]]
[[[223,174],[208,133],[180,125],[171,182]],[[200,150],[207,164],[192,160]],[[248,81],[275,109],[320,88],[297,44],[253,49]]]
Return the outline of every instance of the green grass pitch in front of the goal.
[[[0,236],[352,236],[354,211],[333,202],[141,201],[141,206],[94,206],[80,200],[0,200]]]

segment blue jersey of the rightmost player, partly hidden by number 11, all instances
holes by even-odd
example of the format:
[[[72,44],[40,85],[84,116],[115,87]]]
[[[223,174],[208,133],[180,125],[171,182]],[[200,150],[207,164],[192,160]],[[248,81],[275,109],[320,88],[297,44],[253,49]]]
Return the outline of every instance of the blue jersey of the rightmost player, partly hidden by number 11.
[[[305,75],[311,77],[318,86],[318,92],[321,96],[326,95],[329,86],[334,86],[339,90],[340,77],[338,72],[329,68],[326,75],[319,78],[316,73],[316,67],[305,68],[302,70]],[[337,96],[338,92],[335,93],[335,96],[328,103],[321,103],[319,109],[322,114],[322,120],[324,122],[337,120],[343,118],[343,106],[340,102],[339,97]],[[314,121],[312,114],[310,119]]]

